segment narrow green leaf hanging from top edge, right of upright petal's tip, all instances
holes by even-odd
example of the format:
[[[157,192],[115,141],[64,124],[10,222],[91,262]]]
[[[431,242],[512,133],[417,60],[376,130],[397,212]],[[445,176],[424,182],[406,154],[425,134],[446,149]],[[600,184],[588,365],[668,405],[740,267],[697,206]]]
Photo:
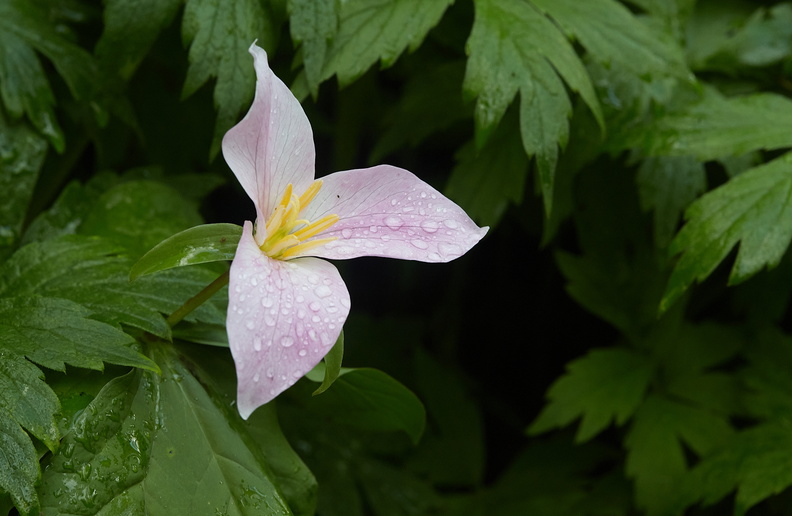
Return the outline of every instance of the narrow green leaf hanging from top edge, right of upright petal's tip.
[[[330,40],[338,30],[335,0],[288,0],[292,39],[302,48],[305,80],[316,97]]]

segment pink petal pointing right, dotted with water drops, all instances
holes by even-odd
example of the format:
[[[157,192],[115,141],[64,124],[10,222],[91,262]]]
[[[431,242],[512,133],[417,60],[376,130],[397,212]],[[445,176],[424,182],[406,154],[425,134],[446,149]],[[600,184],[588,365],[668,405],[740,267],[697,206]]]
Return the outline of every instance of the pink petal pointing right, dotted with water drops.
[[[337,240],[307,251],[330,259],[384,256],[448,262],[465,254],[486,234],[453,201],[407,170],[379,165],[336,172],[303,216],[328,213],[340,219],[316,238]]]

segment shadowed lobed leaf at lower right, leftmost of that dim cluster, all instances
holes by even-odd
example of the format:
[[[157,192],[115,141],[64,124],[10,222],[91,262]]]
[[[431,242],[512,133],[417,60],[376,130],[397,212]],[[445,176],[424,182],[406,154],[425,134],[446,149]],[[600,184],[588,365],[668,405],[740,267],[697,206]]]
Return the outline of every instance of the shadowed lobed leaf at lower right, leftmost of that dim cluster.
[[[567,364],[547,392],[548,405],[528,427],[530,434],[582,418],[575,440],[585,442],[612,422],[623,425],[641,405],[653,367],[629,349],[598,349]]]

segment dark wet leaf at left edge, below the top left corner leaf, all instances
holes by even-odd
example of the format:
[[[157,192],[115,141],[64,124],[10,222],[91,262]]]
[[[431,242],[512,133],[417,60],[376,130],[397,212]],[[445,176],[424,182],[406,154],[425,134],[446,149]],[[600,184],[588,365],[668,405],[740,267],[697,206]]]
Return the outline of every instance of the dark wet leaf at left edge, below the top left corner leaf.
[[[0,68],[2,66],[0,57]],[[0,203],[0,258],[19,241],[33,188],[46,155],[47,143],[43,138],[24,123],[8,124],[0,114],[0,191],[3,192],[3,202]]]

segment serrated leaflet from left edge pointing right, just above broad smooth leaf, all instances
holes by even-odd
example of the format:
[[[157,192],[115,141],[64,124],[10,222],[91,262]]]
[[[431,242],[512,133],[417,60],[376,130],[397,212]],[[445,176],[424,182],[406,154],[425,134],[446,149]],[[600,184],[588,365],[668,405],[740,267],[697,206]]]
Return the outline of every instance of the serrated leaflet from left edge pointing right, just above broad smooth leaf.
[[[66,299],[0,298],[0,348],[58,371],[65,364],[102,370],[104,362],[157,370],[151,360],[130,347],[129,335],[88,319],[90,315]]]

